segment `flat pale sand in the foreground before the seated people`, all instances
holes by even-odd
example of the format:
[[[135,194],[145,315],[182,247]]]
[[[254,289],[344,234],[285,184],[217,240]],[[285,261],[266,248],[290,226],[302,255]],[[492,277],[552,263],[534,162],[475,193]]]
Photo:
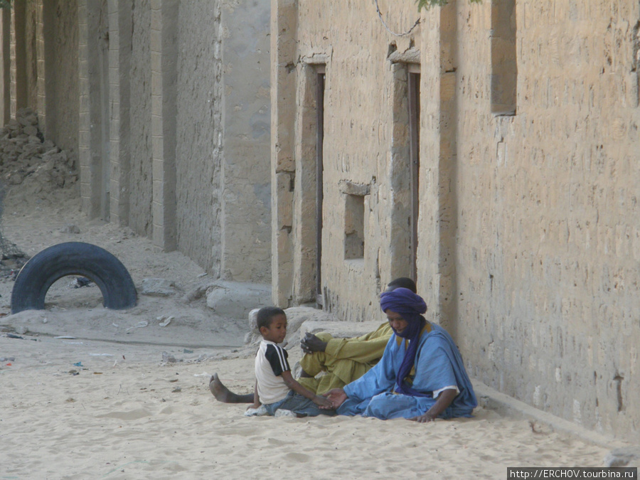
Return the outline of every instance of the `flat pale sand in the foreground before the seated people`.
[[[244,417],[207,388],[218,371],[250,390],[252,358],[233,353],[162,364],[156,346],[42,337],[0,338],[0,351],[16,358],[0,372],[0,478],[506,478],[507,466],[601,466],[607,453],[481,408],[432,424]]]

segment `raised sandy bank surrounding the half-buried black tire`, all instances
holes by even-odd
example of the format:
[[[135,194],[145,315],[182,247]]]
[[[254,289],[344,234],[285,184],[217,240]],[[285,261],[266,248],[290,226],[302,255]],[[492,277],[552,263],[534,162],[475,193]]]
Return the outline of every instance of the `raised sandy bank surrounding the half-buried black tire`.
[[[30,257],[62,242],[88,242],[105,248],[129,270],[142,291],[144,279],[174,282],[174,294],[166,297],[139,294],[137,306],[127,311],[102,307],[102,294],[95,284],[75,288],[75,277],[55,282],[46,296],[46,311],[23,311],[9,319],[18,331],[68,335],[113,341],[181,343],[185,346],[240,346],[246,321],[216,316],[201,295],[186,300],[198,287],[210,283],[201,267],[179,252],[162,253],[147,238],[129,229],[119,229],[101,220],[87,220],[80,213],[78,199],[68,195],[40,201],[17,200],[9,193],[1,228],[4,238]],[[55,206],[53,201],[55,201]],[[75,228],[73,228],[75,227]],[[70,233],[78,231],[79,233]],[[11,313],[14,282],[0,277],[0,313]],[[166,319],[171,318],[168,325]],[[0,326],[2,325],[0,319]],[[142,327],[142,325],[145,325]]]

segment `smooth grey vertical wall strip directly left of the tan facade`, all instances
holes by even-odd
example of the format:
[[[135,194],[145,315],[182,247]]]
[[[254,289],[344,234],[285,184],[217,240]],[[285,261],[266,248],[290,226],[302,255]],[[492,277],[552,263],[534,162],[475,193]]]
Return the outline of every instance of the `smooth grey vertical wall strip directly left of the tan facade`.
[[[223,1],[221,277],[271,281],[270,2]]]

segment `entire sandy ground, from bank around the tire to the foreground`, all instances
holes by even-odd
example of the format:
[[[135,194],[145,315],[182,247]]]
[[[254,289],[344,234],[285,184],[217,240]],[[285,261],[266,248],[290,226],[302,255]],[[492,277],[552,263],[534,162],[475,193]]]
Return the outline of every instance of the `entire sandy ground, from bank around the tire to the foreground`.
[[[97,287],[74,289],[65,277],[45,311],[0,318],[0,479],[506,478],[507,466],[604,466],[604,447],[481,407],[473,419],[430,424],[245,417],[245,406],[216,402],[208,378],[218,372],[238,393],[252,389],[247,324],[216,317],[203,298],[184,300],[206,281],[200,267],[87,221],[68,194],[10,194],[4,210],[5,237],[29,255],[95,243],[137,285],[170,278],[176,294],[107,311]],[[0,279],[4,314],[12,284]],[[16,331],[25,333],[7,335]]]

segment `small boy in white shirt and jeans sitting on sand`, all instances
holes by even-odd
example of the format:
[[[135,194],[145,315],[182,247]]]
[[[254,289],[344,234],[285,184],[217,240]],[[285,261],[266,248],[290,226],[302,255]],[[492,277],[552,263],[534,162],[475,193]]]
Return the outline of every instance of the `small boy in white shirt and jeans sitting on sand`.
[[[265,306],[257,314],[257,327],[262,335],[260,348],[255,356],[255,390],[252,408],[265,405],[269,415],[277,410],[289,410],[297,417],[334,415],[333,410],[321,410],[319,406],[331,407],[324,397],[306,390],[291,374],[287,353],[277,343],[287,335],[287,316],[276,306]]]

